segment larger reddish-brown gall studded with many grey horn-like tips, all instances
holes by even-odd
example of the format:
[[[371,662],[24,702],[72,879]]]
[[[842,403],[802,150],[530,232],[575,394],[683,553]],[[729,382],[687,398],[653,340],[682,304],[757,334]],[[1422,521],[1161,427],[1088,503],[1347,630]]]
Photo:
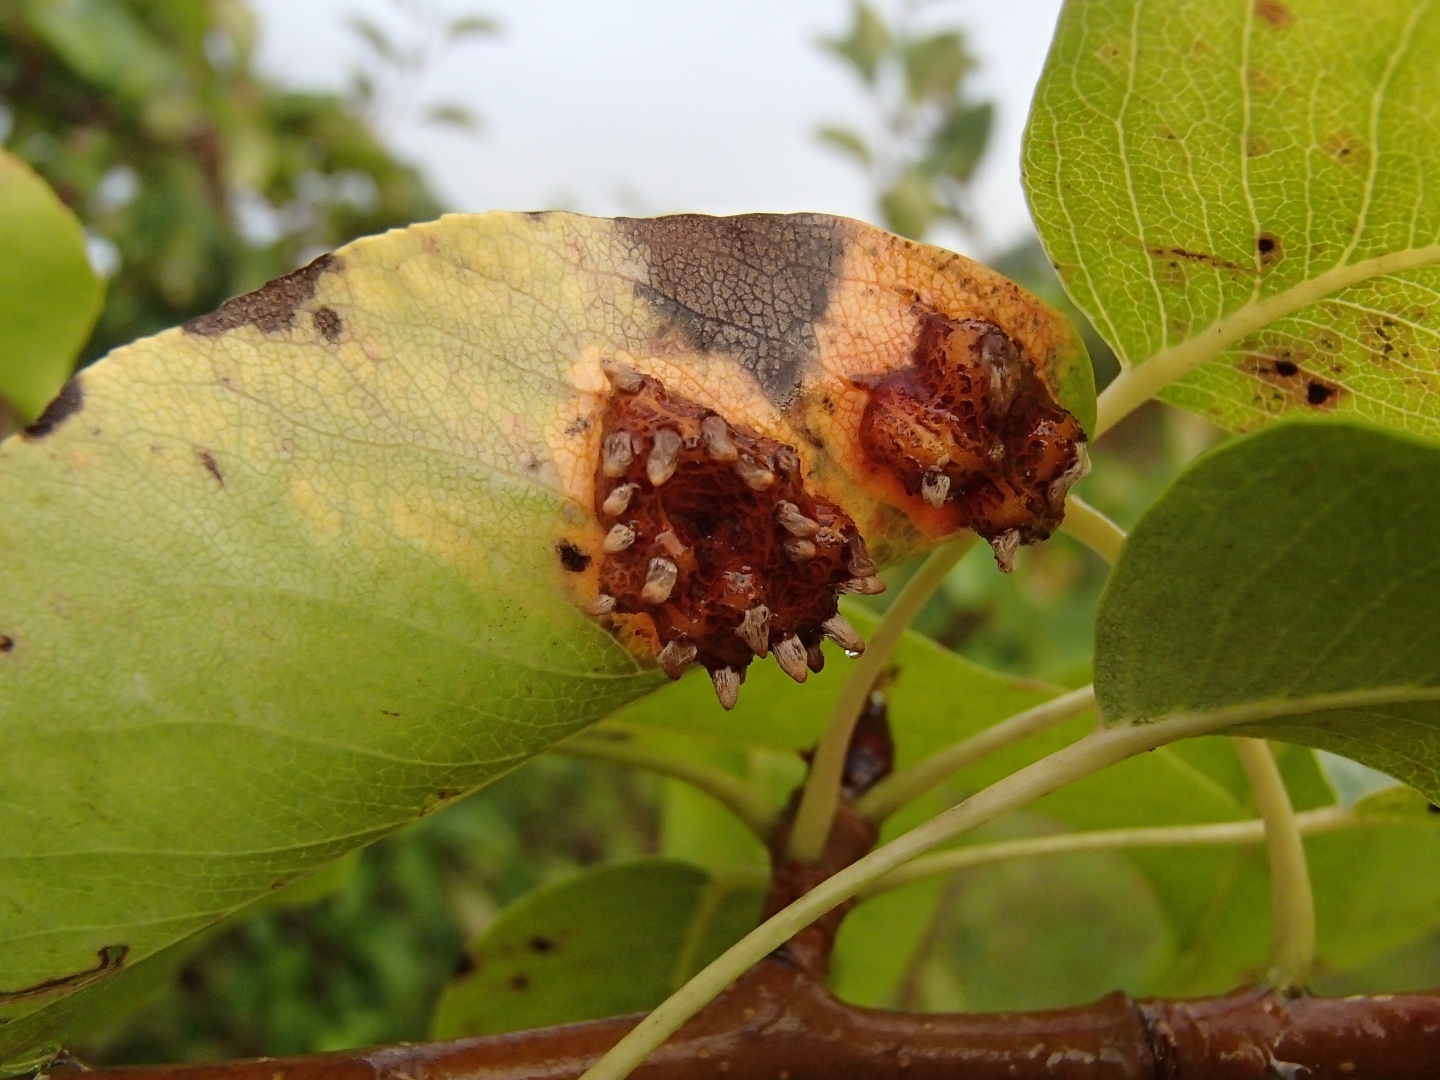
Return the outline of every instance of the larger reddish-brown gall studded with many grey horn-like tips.
[[[744,670],[775,652],[796,681],[825,636],[864,648],[841,592],[880,592],[855,523],[805,487],[795,449],[629,369],[600,415],[595,514],[603,528],[590,611],[655,642],[671,678],[710,671],[730,708]]]

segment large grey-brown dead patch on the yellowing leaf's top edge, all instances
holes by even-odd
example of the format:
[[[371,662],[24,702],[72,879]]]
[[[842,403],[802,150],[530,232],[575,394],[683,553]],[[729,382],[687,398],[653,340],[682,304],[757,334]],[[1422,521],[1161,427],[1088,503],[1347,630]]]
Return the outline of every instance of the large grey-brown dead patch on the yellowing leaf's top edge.
[[[616,217],[642,249],[635,292],[701,351],[732,353],[780,409],[818,351],[815,323],[840,281],[850,230],[825,215]]]

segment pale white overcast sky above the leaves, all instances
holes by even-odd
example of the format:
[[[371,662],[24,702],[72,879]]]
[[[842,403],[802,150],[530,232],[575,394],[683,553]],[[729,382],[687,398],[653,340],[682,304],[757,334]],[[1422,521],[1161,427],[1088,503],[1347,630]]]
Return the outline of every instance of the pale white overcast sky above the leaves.
[[[416,124],[415,109],[387,132],[449,209],[873,216],[864,177],[812,134],[867,117],[854,76],[815,48],[848,26],[848,0],[412,0],[426,1],[503,26],[445,56],[412,95],[469,107],[480,135]],[[298,86],[344,84],[363,52],[348,14],[402,24],[393,0],[252,3],[261,65]],[[1020,134],[1060,0],[912,7],[969,33],[982,62],[973,92],[998,105],[975,199],[998,249],[1028,228]]]

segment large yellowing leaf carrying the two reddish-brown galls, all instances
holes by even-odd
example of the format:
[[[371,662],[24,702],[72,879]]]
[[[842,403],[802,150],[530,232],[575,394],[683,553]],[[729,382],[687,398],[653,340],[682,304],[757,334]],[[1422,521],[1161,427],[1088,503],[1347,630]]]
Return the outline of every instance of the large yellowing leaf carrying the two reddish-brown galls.
[[[792,448],[786,484],[881,559],[962,524],[855,435],[867,380],[940,324],[1011,343],[979,360],[1035,395],[1015,415],[1093,406],[1063,317],[814,215],[446,217],[84,372],[0,444],[0,1015],[655,688],[654,641],[585,611],[619,393],[602,364]]]

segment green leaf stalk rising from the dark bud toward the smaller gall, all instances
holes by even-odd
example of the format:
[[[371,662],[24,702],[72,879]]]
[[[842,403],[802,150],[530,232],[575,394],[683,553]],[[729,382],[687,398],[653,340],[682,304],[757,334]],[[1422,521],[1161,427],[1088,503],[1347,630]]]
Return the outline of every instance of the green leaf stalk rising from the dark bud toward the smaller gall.
[[[835,806],[840,805],[840,780],[845,769],[850,736],[870,698],[870,691],[890,662],[890,654],[906,626],[919,615],[920,608],[971,550],[975,540],[973,533],[965,533],[930,552],[930,557],[906,582],[876,632],[870,635],[864,655],[851,667],[845,684],[840,688],[840,698],[831,710],[829,724],[815,744],[815,757],[805,778],[805,791],[795,814],[795,827],[791,829],[788,854],[793,861],[814,863],[825,850],[829,822],[835,816]]]

